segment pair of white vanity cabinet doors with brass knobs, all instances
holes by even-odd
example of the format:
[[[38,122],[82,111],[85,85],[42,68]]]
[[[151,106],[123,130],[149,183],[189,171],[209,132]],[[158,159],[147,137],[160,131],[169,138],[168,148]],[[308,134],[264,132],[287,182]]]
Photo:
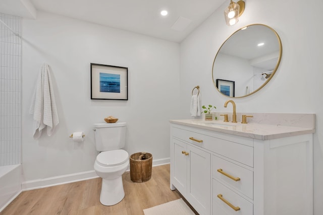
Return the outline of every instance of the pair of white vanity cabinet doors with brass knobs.
[[[191,144],[173,138],[173,184],[201,214],[210,213],[211,155]]]

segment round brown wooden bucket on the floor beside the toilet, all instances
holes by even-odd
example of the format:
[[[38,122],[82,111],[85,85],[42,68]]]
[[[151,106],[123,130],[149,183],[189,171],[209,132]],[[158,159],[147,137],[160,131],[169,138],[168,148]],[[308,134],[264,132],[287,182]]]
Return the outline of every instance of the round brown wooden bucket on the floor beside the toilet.
[[[141,157],[145,160],[141,160]],[[139,152],[130,156],[130,178],[133,182],[145,182],[151,178],[152,155]]]

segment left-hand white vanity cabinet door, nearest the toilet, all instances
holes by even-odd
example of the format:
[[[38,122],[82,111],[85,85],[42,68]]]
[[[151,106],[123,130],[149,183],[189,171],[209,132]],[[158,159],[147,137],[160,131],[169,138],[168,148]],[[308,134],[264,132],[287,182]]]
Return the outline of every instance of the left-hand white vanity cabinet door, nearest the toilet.
[[[174,147],[174,178],[173,184],[182,195],[186,195],[186,184],[187,184],[187,155],[186,144],[180,140],[173,139]]]

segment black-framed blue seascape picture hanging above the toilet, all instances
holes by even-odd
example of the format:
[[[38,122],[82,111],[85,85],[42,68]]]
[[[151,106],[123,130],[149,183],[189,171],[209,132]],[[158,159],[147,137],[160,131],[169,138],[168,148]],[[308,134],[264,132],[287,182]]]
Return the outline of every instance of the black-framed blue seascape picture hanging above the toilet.
[[[91,99],[128,100],[128,68],[91,63]]]

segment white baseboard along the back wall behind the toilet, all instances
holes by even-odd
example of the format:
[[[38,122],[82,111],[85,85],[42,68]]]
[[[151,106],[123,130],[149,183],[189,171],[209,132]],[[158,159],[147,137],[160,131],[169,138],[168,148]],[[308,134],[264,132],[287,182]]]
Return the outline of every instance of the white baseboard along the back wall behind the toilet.
[[[170,163],[170,158],[152,160],[152,166],[160,166],[160,165],[165,165],[169,163]],[[128,168],[127,171],[129,170],[130,169]],[[50,187],[50,186],[55,186],[60,184],[67,184],[67,183],[72,183],[77,181],[88,180],[92,178],[98,178],[94,170],[68,174],[68,175],[61,175],[61,176],[50,177],[50,178],[44,178],[44,179],[24,181],[22,182],[21,187],[22,187],[22,191],[33,190],[38,188],[44,188],[44,187]]]

